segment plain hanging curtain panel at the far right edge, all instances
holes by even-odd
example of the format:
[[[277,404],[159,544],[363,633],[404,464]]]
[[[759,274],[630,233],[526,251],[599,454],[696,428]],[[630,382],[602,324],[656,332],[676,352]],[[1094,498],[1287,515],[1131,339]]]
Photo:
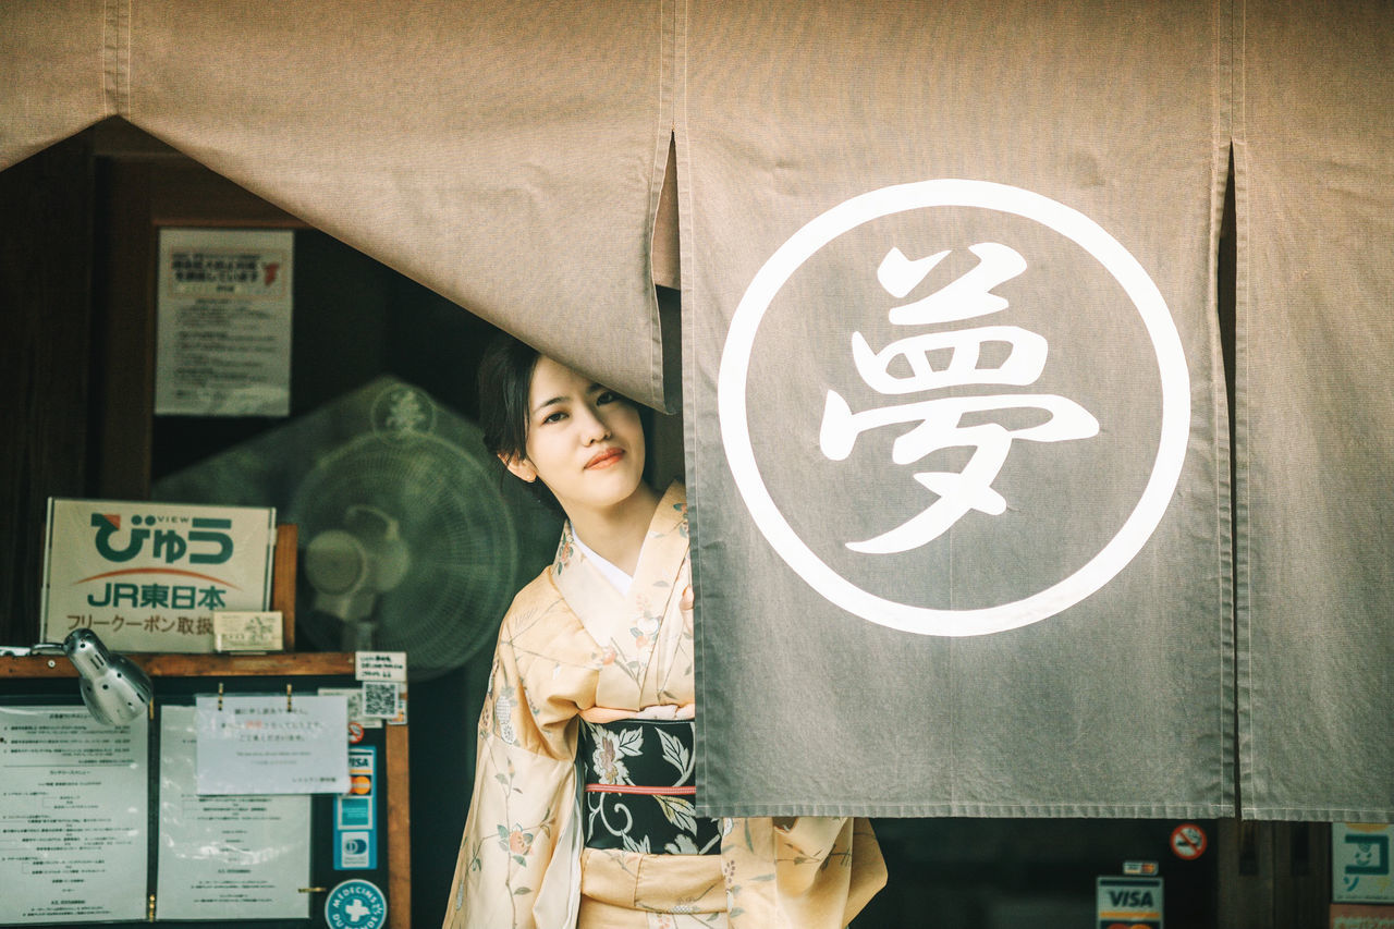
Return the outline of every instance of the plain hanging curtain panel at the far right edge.
[[[1394,24],[1248,0],[1238,212],[1243,815],[1394,819]]]

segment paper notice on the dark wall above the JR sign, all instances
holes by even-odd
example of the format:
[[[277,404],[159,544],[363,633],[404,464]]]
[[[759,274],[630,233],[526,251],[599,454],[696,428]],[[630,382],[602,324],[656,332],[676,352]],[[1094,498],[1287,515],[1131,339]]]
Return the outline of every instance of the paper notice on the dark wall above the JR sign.
[[[158,416],[289,416],[294,233],[162,229]]]

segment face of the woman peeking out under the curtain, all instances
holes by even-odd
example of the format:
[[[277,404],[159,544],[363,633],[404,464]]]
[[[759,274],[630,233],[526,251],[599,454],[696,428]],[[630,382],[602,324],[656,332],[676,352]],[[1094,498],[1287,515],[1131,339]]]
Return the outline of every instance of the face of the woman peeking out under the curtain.
[[[569,515],[622,504],[644,478],[644,431],[633,405],[545,356],[528,388],[524,451],[526,459],[505,464],[546,484]]]

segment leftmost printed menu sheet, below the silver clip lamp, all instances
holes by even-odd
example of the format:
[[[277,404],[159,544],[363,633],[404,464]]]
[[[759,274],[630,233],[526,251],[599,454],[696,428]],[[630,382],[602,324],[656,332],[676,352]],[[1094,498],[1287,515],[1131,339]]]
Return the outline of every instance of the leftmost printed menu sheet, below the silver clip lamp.
[[[145,919],[146,718],[0,707],[0,923]]]

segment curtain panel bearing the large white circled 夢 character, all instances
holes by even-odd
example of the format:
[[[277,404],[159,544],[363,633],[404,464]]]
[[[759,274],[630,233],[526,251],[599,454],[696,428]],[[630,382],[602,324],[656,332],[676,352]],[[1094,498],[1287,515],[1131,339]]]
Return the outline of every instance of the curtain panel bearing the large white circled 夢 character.
[[[708,813],[1232,809],[1227,15],[687,6]]]

